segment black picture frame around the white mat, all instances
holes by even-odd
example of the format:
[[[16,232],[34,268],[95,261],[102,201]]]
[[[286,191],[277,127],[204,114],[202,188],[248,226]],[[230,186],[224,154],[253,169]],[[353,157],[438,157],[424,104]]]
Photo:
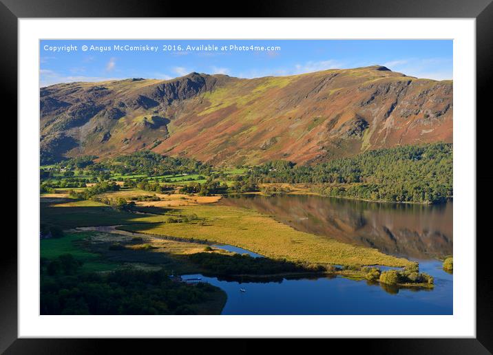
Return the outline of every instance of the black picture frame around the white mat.
[[[220,14],[218,9],[222,9]],[[2,54],[3,99],[13,108],[10,117],[17,117],[17,20],[19,18],[56,17],[380,17],[380,18],[474,18],[476,19],[476,125],[490,118],[488,88],[493,83],[493,3],[492,0],[346,0],[346,1],[256,1],[244,6],[216,1],[191,3],[185,1],[138,0],[0,0],[0,41]],[[473,118],[471,118],[473,119]],[[12,123],[12,132],[17,131]],[[487,126],[486,126],[487,127]],[[489,162],[481,142],[487,144],[487,129],[476,130],[476,189],[491,183],[493,175],[480,162]],[[485,146],[487,148],[487,146]],[[483,153],[485,152],[485,153]],[[484,159],[481,159],[484,158]],[[488,164],[489,165],[489,164]],[[482,172],[482,174],[480,173]],[[21,186],[17,186],[18,189]],[[21,213],[22,211],[19,211]],[[492,272],[487,265],[490,233],[482,234],[487,208],[476,205],[476,338],[441,339],[351,339],[331,342],[350,342],[351,349],[361,347],[365,352],[379,354],[490,354],[493,352]],[[486,229],[484,229],[486,230]],[[474,237],[474,236],[459,236]],[[118,339],[18,339],[17,338],[17,243],[3,244],[0,258],[0,352],[6,354],[97,354],[110,344],[112,352],[138,349],[139,345]],[[154,343],[160,340],[154,341]],[[168,344],[178,341],[167,340]],[[186,341],[186,351],[201,351],[204,341]],[[277,351],[293,350],[291,341],[277,342]],[[224,343],[223,343],[224,344]],[[348,344],[340,344],[347,347]],[[169,345],[167,345],[169,346]],[[258,349],[258,340],[240,340],[234,352],[252,352]],[[316,346],[316,345],[313,345]],[[323,345],[324,346],[324,345]],[[224,347],[224,345],[223,345]],[[231,347],[226,346],[230,352]],[[229,349],[228,349],[229,348]],[[140,348],[142,349],[142,348]],[[220,349],[218,349],[220,351]]]

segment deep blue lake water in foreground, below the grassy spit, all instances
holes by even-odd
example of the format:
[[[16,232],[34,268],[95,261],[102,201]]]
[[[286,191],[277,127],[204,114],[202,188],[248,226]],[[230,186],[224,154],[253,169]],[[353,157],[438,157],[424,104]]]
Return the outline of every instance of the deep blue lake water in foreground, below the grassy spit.
[[[439,261],[420,261],[432,290],[399,288],[341,276],[238,279],[202,277],[227,292],[222,314],[452,314],[452,275]],[[241,292],[243,289],[244,292]]]

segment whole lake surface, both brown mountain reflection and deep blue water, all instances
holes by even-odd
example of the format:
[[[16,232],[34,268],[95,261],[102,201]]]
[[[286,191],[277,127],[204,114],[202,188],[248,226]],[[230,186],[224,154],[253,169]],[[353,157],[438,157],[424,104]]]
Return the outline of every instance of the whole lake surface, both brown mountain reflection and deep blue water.
[[[228,197],[221,204],[251,208],[297,230],[419,261],[433,290],[392,288],[344,277],[269,282],[202,277],[227,292],[222,314],[452,314],[452,275],[434,259],[452,254],[452,203],[378,204],[306,195]],[[246,292],[240,292],[244,288]]]

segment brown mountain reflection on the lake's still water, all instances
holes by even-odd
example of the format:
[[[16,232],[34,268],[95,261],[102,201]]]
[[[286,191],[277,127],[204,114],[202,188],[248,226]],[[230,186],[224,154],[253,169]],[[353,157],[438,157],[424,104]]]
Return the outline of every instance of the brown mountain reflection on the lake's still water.
[[[452,202],[423,206],[312,195],[241,195],[221,203],[254,209],[297,230],[391,255],[430,259],[452,254]]]

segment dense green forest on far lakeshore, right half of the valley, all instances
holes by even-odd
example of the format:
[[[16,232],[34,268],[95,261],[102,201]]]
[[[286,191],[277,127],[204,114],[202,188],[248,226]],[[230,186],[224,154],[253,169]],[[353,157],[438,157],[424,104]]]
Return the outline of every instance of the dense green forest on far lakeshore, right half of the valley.
[[[322,195],[443,202],[452,196],[452,144],[379,149],[316,165],[297,166],[277,160],[254,166],[249,175],[256,183],[316,184],[314,190]]]

